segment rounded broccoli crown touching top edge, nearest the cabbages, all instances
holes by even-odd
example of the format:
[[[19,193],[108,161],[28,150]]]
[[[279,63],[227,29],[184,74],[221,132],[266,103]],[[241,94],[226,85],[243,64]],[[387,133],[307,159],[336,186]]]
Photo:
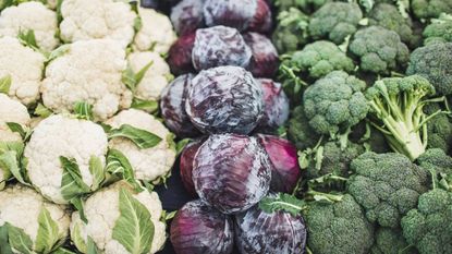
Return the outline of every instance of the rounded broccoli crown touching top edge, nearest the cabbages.
[[[314,39],[329,39],[334,44],[342,44],[354,34],[363,12],[356,3],[328,2],[317,10],[309,23],[309,35]]]

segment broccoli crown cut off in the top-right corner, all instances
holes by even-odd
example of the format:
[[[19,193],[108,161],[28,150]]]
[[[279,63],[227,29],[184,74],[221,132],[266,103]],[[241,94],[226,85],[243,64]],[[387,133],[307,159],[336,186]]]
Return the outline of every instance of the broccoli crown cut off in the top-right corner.
[[[452,0],[412,0],[412,9],[417,19],[438,17],[452,12]]]

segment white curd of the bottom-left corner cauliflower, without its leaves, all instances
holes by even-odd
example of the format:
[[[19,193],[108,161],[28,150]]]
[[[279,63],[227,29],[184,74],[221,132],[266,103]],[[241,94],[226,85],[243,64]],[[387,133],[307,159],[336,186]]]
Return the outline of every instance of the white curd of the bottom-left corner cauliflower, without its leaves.
[[[0,192],[0,227],[8,222],[15,228],[23,229],[32,239],[34,251],[39,253],[42,250],[36,250],[36,239],[39,227],[42,227],[38,218],[44,208],[58,226],[58,235],[46,235],[46,239],[65,239],[69,235],[70,226],[66,207],[47,202],[36,191],[22,185],[9,186]],[[46,244],[46,247],[51,249],[49,244]]]

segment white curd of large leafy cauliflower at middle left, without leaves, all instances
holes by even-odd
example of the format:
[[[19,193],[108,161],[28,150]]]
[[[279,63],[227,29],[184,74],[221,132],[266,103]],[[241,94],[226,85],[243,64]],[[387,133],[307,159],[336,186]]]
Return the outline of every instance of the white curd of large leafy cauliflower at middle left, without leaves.
[[[60,156],[76,160],[83,181],[91,186],[89,172],[91,156],[105,165],[108,150],[107,134],[90,121],[51,116],[34,130],[24,155],[32,184],[46,197],[57,204],[68,204],[61,193],[63,169]]]

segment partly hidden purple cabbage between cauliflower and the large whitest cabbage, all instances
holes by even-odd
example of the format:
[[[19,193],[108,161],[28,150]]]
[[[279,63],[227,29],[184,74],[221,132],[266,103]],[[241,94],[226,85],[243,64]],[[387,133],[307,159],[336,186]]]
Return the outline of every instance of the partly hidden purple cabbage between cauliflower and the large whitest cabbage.
[[[185,112],[185,100],[193,77],[193,74],[178,76],[161,93],[160,109],[164,124],[179,137],[200,135]]]

